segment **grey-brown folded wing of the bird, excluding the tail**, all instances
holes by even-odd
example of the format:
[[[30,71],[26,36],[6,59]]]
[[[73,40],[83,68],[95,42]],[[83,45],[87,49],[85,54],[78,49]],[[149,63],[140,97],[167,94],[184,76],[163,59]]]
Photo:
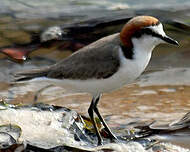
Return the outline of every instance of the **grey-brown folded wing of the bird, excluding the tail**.
[[[118,49],[115,43],[107,42],[89,45],[79,52],[51,67],[47,77],[57,79],[90,78],[105,79],[119,68]]]

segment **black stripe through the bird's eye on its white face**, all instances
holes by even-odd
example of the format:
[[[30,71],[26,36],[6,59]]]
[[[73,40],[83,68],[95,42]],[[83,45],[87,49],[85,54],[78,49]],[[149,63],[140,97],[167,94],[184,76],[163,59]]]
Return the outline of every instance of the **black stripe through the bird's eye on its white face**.
[[[139,31],[136,31],[134,34],[133,34],[133,37],[135,38],[140,38],[141,36],[143,35],[151,35],[151,36],[154,36],[154,37],[158,37],[158,38],[162,38],[162,35],[158,34],[158,33],[155,33],[152,29],[150,28],[143,28]]]

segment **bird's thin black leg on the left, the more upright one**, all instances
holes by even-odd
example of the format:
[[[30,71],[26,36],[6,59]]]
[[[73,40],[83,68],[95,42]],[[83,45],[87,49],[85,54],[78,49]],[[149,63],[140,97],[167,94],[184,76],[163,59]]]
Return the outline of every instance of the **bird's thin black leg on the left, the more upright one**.
[[[92,120],[94,129],[96,131],[96,135],[98,137],[98,145],[102,145],[102,137],[101,137],[101,135],[100,135],[100,133],[98,131],[98,128],[97,128],[97,125],[96,125],[96,121],[94,119],[94,107],[95,107],[95,101],[97,100],[97,98],[99,99],[99,96],[93,97],[92,102],[90,104],[90,107],[88,109],[88,114],[90,116],[90,119]]]

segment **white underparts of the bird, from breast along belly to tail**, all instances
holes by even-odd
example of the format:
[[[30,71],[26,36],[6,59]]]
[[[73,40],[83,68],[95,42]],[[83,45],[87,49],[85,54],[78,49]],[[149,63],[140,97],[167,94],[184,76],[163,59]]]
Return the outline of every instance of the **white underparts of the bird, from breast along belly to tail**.
[[[107,79],[89,79],[89,80],[57,80],[43,78],[45,81],[50,81],[51,83],[61,86],[63,88],[69,89],[74,92],[87,92],[93,95],[97,93],[110,92],[115,89],[119,89],[125,84],[133,82],[140,74],[144,71],[147,66],[151,53],[143,54],[142,51],[137,51],[135,53],[134,59],[126,59],[119,50],[119,57],[121,60],[121,67],[119,70]],[[34,79],[33,79],[34,80]],[[41,81],[42,79],[40,79]]]

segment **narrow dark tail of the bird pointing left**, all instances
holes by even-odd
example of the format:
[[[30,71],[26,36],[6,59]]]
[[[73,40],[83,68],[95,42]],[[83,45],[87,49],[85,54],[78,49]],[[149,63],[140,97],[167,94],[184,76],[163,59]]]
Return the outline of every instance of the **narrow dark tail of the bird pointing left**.
[[[14,82],[31,80],[37,77],[45,77],[48,74],[49,68],[33,69],[28,71],[19,71],[14,73]]]

